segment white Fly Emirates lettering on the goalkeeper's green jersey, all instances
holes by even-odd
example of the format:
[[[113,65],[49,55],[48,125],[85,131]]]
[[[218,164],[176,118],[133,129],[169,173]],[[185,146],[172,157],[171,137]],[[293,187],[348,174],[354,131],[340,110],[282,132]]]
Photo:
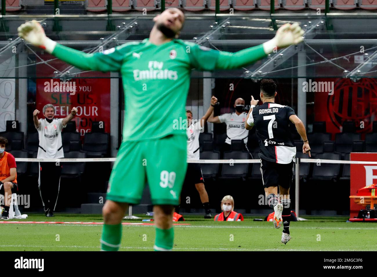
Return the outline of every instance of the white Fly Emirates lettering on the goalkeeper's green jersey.
[[[148,70],[133,70],[133,78],[135,81],[141,80],[177,80],[177,71],[162,69],[164,62],[162,61],[149,61]]]

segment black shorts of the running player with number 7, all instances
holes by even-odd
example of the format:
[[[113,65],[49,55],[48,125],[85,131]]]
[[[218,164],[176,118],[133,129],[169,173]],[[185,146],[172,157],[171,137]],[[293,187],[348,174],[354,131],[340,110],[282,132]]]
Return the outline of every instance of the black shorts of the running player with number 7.
[[[283,188],[290,188],[293,182],[293,166],[293,161],[289,164],[278,164],[261,159],[260,170],[263,187],[277,187],[280,185]]]

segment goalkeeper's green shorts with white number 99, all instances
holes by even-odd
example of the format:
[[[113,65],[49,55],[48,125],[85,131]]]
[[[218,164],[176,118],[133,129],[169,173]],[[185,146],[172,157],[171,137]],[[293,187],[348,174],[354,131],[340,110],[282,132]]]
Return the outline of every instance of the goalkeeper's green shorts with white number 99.
[[[178,205],[187,169],[187,138],[122,142],[111,171],[106,199],[139,204],[149,184],[153,205]]]

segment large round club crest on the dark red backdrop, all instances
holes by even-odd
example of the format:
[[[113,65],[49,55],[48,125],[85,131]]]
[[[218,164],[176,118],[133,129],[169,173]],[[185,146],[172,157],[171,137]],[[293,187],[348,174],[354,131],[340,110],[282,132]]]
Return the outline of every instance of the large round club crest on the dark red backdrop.
[[[338,129],[344,121],[354,120],[357,125],[363,121],[363,132],[368,132],[376,111],[377,82],[372,78],[362,78],[357,83],[342,78],[335,83],[333,95],[327,98],[328,115]]]

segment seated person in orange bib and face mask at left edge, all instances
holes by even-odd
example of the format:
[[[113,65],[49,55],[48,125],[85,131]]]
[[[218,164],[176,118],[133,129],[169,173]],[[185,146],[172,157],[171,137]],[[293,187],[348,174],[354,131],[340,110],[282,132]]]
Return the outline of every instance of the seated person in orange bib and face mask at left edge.
[[[4,195],[4,211],[1,219],[9,218],[9,206],[12,193],[17,193],[16,160],[11,153],[5,151],[8,139],[0,136],[0,194]]]

